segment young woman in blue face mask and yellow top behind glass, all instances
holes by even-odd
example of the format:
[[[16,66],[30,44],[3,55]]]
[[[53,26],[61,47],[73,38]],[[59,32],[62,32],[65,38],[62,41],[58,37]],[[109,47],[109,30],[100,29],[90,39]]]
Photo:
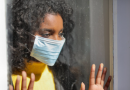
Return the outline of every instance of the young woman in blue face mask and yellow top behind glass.
[[[63,56],[63,45],[71,50],[72,8],[64,0],[14,0],[9,11],[8,49],[12,64],[9,89],[77,90],[69,66],[58,60]],[[89,90],[103,90],[106,68],[103,73],[102,70],[100,64],[95,83],[92,65]],[[110,80],[109,77],[105,90]],[[81,90],[85,90],[83,83]]]

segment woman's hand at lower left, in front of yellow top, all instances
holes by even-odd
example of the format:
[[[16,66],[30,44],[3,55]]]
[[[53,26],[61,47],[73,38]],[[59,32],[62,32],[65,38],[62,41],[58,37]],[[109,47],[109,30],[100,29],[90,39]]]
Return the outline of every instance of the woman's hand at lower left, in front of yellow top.
[[[34,85],[34,81],[35,81],[35,75],[32,73],[31,74],[31,79],[30,79],[30,83],[29,86],[27,88],[27,84],[26,84],[26,78],[27,78],[27,74],[25,71],[22,71],[22,85],[21,85],[21,90],[33,90],[33,85]],[[18,76],[16,79],[16,83],[15,83],[15,90],[19,90],[19,83],[20,83],[20,77]],[[13,90],[13,86],[9,85],[9,90]]]

